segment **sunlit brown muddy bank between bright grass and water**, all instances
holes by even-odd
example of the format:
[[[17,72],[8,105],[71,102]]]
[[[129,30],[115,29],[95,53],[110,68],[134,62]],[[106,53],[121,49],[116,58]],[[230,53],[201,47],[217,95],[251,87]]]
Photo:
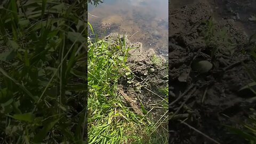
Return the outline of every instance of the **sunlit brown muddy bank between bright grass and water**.
[[[123,38],[125,38],[127,46],[134,48],[129,51],[126,62],[132,73],[130,75],[124,74],[118,82],[122,86],[121,92],[125,93],[123,96],[129,97],[126,102],[139,109],[141,109],[141,102],[148,111],[153,106],[163,107],[164,104],[167,105],[166,95],[161,91],[168,84],[167,61],[161,56],[156,56],[153,49],[142,50],[142,43],[131,43],[126,36],[121,36],[121,39]],[[118,39],[118,35],[111,33],[105,37],[105,41],[110,43],[115,41],[113,39]],[[154,71],[150,71],[150,69],[154,69]],[[122,70],[127,72],[127,70]],[[135,107],[133,109],[137,109]],[[137,110],[135,112],[141,113]],[[151,112],[153,112],[153,116],[159,116],[166,111],[163,111],[163,108],[154,108]]]

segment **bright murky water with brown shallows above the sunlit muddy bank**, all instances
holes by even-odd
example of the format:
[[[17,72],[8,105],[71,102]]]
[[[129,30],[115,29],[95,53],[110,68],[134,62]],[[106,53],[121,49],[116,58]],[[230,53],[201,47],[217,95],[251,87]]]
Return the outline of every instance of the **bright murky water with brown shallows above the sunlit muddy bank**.
[[[168,54],[167,0],[108,0],[97,7],[88,4],[88,12],[88,21],[99,37],[127,34],[131,42],[141,42],[144,50]]]

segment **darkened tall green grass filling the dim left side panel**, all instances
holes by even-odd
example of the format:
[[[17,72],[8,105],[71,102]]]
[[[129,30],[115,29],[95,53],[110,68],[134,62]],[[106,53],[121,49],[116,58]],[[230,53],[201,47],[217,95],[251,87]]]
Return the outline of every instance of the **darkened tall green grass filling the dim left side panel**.
[[[0,9],[1,143],[85,143],[87,2]]]

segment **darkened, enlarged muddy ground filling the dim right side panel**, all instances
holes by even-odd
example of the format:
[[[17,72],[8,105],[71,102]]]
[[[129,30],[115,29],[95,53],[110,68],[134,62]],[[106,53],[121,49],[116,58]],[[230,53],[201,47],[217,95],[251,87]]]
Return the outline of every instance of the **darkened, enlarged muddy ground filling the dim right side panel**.
[[[215,22],[214,41],[206,43],[209,25],[203,21],[212,12],[207,2],[169,11],[169,143],[247,143],[225,125],[237,126],[255,107],[251,91],[238,90],[252,82],[242,62],[251,70],[256,65],[241,53],[249,51],[248,37],[234,19]],[[201,61],[206,63],[198,69]]]

